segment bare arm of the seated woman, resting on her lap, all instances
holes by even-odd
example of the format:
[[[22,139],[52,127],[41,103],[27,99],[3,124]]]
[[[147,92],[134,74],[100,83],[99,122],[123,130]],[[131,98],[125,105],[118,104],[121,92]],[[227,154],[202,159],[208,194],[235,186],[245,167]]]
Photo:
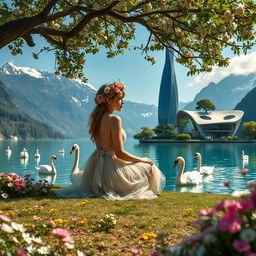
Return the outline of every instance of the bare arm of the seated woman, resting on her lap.
[[[126,152],[123,148],[122,139],[122,121],[119,116],[113,115],[110,119],[110,130],[114,146],[114,151],[117,158],[128,162],[144,162],[153,165],[153,162],[148,158],[141,158]]]

